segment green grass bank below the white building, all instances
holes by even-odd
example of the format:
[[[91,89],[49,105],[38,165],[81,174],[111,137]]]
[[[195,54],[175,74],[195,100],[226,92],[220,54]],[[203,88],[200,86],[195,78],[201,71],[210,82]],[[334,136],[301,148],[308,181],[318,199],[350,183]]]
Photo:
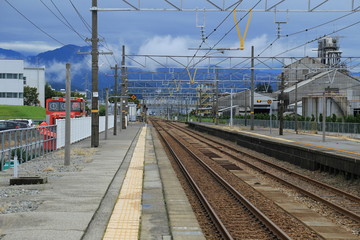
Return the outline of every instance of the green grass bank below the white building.
[[[0,105],[0,119],[27,118],[43,120],[46,110],[43,107]]]

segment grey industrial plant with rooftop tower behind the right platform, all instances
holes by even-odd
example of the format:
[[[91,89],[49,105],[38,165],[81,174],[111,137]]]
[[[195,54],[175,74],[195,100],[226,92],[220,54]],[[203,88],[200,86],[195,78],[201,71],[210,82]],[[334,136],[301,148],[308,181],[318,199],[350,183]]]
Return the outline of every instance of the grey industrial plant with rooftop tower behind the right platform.
[[[337,39],[325,37],[318,41],[318,57],[304,57],[284,67],[285,111],[318,118],[323,113],[338,117],[360,112],[360,81],[352,77],[341,62]],[[279,76],[279,79],[281,76]],[[277,81],[281,89],[281,81]],[[254,94],[254,112],[275,114],[281,91]],[[250,112],[250,90],[233,95],[234,114]],[[325,103],[324,103],[325,101]],[[220,112],[231,105],[230,96],[219,99]],[[295,107],[297,103],[297,110]]]

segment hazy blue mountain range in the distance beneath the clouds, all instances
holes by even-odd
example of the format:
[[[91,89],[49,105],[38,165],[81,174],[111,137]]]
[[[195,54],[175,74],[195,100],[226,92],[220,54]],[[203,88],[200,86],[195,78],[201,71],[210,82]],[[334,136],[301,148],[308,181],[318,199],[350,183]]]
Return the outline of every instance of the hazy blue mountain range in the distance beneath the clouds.
[[[63,47],[42,52],[35,56],[25,56],[20,52],[13,50],[7,50],[0,48],[0,58],[12,58],[12,59],[23,59],[25,62],[25,67],[45,67],[45,77],[46,81],[56,90],[65,89],[65,78],[66,78],[66,67],[67,62],[71,63],[71,87],[73,90],[84,91],[86,89],[91,89],[91,55],[89,54],[79,54],[79,52],[91,52],[90,46],[76,46],[76,45],[65,45]],[[105,65],[99,61],[99,91],[102,91],[105,88],[113,88],[113,78],[106,76],[106,74],[113,74],[108,66],[105,69]],[[171,86],[174,84],[176,79],[188,79],[188,73],[184,69],[173,70],[174,72],[169,72],[169,69],[158,68],[156,72],[158,74],[152,74],[146,72],[140,68],[129,68],[128,70],[128,79],[149,79],[146,83],[131,83],[135,86],[135,90],[142,92],[144,89],[155,89],[159,86],[158,83],[151,81],[154,79],[161,80],[163,82],[162,86],[164,90],[176,89],[177,86]],[[226,70],[225,70],[226,71]],[[225,72],[224,71],[224,72]],[[233,69],[231,71],[234,71]],[[141,76],[140,76],[141,75]],[[197,71],[197,76],[209,75],[206,69],[199,69]],[[214,77],[214,76],[212,76]],[[219,75],[219,80],[224,78]],[[179,81],[179,80],[177,80]],[[131,88],[129,81],[129,87]],[[243,87],[243,86],[238,86]],[[182,88],[189,88],[189,85],[183,85]],[[155,91],[155,90],[154,90]]]

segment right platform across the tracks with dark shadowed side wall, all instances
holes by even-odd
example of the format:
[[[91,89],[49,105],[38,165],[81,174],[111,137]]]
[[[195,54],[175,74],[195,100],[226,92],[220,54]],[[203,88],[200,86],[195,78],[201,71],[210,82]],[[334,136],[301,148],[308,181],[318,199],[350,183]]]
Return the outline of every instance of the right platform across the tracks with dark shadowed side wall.
[[[269,129],[250,126],[215,125],[189,122],[198,131],[207,132],[238,145],[264,153],[302,168],[341,173],[348,179],[360,176],[360,136],[334,133]]]

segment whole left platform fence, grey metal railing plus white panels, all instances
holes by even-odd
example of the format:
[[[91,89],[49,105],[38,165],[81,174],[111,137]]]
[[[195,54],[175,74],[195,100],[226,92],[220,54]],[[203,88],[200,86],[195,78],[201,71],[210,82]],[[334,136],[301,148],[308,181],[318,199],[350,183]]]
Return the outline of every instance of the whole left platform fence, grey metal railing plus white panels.
[[[114,127],[114,116],[108,118],[108,128]],[[105,117],[99,117],[99,132],[105,131]],[[71,143],[91,136],[91,118],[71,119]],[[65,146],[65,119],[57,125],[0,131],[0,171],[12,167],[16,155],[19,163]]]

